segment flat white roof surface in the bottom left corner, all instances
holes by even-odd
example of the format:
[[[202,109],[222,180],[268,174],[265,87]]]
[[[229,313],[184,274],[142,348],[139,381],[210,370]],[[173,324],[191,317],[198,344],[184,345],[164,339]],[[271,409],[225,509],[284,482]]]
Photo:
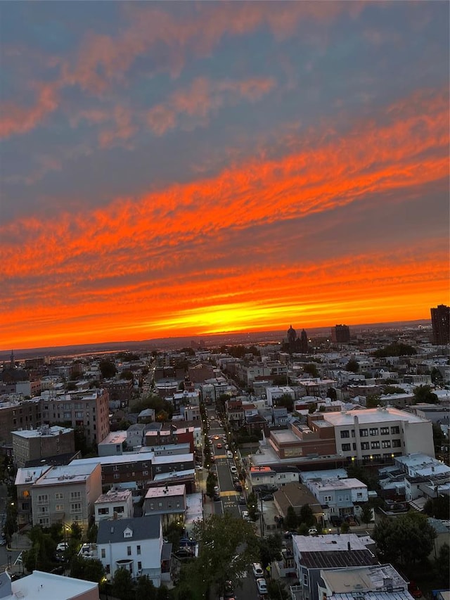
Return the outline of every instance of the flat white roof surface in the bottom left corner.
[[[33,571],[31,575],[11,582],[11,588],[13,594],[4,596],[2,600],[17,600],[18,598],[26,600],[41,600],[43,598],[71,600],[77,598],[80,594],[98,590],[98,583],[74,579],[73,577],[63,577],[63,575],[53,575],[53,573]],[[97,596],[92,597],[98,597],[98,592]]]

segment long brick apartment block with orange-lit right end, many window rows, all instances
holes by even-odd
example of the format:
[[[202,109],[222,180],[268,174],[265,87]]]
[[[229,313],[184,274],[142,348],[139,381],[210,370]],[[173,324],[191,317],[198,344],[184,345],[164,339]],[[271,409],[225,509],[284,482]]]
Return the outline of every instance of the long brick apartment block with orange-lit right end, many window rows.
[[[110,433],[108,392],[91,389],[56,395],[47,392],[41,399],[43,423],[70,423],[81,427],[86,441],[98,444]]]

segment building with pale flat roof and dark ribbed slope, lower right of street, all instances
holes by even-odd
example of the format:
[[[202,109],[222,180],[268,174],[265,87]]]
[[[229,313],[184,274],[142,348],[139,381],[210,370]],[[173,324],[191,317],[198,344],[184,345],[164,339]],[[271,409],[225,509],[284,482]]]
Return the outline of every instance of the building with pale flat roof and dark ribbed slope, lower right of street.
[[[326,568],[342,569],[371,566],[377,563],[370,537],[354,533],[340,535],[294,535],[293,554],[295,570],[304,600],[319,600],[321,574]]]

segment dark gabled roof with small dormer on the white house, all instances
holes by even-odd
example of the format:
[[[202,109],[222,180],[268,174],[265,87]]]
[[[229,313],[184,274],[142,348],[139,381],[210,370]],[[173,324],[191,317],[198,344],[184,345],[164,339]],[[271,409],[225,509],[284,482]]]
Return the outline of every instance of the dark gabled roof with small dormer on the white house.
[[[131,530],[129,537],[124,531]],[[160,516],[148,515],[138,518],[121,518],[98,523],[97,544],[117,544],[136,540],[157,540],[160,537]]]

